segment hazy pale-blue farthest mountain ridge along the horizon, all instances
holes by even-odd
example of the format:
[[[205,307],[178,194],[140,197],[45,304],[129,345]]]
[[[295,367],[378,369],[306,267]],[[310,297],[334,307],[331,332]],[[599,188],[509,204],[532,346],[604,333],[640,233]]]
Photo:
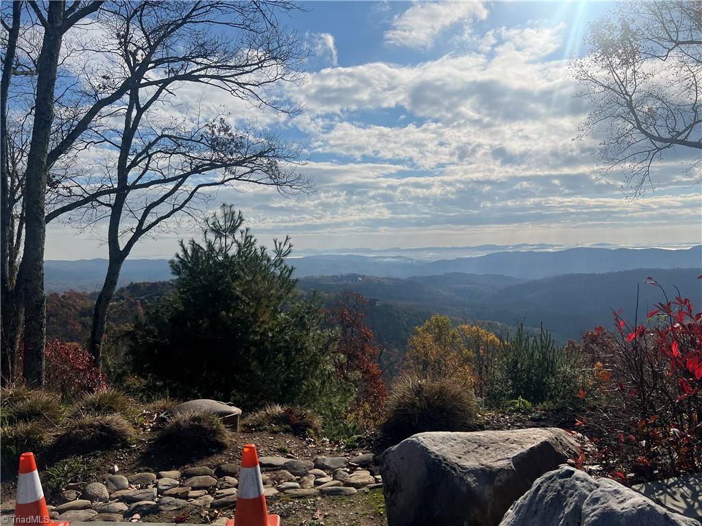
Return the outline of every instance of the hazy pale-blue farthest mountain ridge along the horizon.
[[[296,267],[295,275],[298,278],[340,274],[409,278],[461,273],[529,280],[558,274],[602,273],[637,268],[702,268],[702,245],[681,250],[584,247],[556,252],[510,251],[437,261],[420,261],[404,256],[313,255],[293,258],[289,262]],[[47,260],[44,268],[46,290],[93,292],[102,286],[106,270],[106,259]],[[171,277],[167,259],[127,259],[119,285],[132,281],[165,281]]]

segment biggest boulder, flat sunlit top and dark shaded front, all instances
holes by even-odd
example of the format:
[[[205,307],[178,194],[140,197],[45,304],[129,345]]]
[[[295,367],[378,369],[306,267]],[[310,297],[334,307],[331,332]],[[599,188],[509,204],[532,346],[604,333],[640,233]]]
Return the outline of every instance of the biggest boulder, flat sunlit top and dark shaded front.
[[[388,525],[496,526],[534,480],[577,455],[555,428],[418,433],[383,453]]]

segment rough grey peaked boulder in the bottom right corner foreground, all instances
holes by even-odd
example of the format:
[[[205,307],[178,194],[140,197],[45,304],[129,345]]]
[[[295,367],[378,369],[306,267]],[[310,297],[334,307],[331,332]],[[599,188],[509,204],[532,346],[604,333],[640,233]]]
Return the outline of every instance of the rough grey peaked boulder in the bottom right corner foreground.
[[[500,526],[700,526],[614,480],[561,466],[536,480]]]

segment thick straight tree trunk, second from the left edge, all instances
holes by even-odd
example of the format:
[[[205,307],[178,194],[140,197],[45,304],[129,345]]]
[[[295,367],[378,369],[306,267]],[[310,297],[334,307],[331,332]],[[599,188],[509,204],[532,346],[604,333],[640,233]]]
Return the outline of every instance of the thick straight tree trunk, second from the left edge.
[[[37,97],[34,104],[32,142],[27,155],[25,189],[25,251],[20,264],[25,299],[24,377],[28,386],[44,384],[46,298],[44,297],[44,243],[46,241],[46,176],[53,90],[62,41],[65,1],[48,3],[44,42],[37,62]]]

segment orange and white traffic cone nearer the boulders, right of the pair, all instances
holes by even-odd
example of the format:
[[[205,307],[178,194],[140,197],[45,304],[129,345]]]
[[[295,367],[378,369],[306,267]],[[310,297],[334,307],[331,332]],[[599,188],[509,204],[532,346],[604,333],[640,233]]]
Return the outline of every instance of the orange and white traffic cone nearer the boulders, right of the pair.
[[[246,444],[241,455],[241,471],[239,471],[239,496],[237,497],[237,512],[227,526],[280,526],[278,515],[268,515],[263,494],[263,480],[258,466],[256,446]]]

